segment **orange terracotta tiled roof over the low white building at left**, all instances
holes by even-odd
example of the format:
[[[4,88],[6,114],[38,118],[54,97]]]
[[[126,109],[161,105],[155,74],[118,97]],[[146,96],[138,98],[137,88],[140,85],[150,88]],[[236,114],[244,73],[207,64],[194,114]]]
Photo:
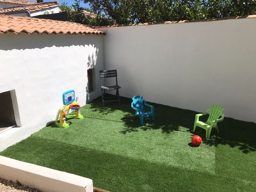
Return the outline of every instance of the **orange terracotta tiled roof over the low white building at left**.
[[[86,25],[68,21],[37,19],[0,14],[0,34],[95,34],[105,35],[104,32]]]

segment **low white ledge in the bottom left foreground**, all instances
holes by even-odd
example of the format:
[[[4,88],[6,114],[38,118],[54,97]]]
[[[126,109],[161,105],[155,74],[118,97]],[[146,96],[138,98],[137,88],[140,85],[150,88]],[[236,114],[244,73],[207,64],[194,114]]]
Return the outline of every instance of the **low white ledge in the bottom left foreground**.
[[[43,192],[93,192],[91,179],[4,156],[0,156],[0,178]]]

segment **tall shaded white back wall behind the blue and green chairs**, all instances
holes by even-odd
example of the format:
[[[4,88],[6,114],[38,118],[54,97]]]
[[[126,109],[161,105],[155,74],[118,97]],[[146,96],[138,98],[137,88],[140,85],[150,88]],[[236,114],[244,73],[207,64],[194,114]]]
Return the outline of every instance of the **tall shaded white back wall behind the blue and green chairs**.
[[[256,19],[100,28],[120,95],[256,122]]]

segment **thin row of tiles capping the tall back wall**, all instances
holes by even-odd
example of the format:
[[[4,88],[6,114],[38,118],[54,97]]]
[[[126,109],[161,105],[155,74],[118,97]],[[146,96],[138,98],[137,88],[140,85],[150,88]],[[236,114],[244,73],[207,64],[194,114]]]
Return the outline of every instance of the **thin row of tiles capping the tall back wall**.
[[[129,25],[108,25],[108,26],[91,26],[91,27],[92,27],[92,28],[125,27],[125,26],[172,24],[172,23],[193,23],[193,22],[218,21],[218,20],[228,20],[228,19],[245,19],[245,18],[256,18],[256,15],[234,16],[234,17],[222,17],[222,18],[216,18],[216,19],[198,19],[198,20],[164,21],[164,22],[157,22],[157,23],[138,23],[138,24],[129,24]]]

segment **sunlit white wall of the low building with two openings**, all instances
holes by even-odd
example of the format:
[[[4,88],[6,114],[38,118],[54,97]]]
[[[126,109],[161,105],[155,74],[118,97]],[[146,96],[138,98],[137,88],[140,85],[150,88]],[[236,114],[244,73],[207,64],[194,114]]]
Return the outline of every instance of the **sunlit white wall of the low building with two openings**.
[[[99,78],[87,94],[87,69],[104,68],[103,35],[0,34],[0,58],[0,93],[15,90],[22,126],[0,137],[0,150],[54,121],[63,92],[74,89],[81,106],[101,95]]]

